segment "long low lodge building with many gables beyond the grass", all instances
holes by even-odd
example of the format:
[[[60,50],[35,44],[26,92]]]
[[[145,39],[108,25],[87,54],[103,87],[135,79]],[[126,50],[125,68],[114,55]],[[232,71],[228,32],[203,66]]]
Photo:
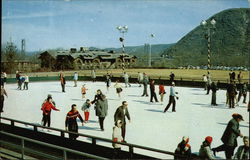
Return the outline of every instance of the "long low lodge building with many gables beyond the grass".
[[[44,51],[40,54],[41,68],[52,70],[122,68],[122,53],[113,51],[88,50],[81,47],[79,51],[71,48],[65,51]],[[136,56],[124,54],[125,67],[131,68],[136,63]]]

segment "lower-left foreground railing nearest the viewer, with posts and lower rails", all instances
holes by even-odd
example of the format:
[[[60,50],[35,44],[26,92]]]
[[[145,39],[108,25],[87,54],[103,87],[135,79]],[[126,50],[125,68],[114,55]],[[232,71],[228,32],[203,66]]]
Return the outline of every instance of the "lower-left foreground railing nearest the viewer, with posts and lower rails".
[[[54,149],[63,151],[63,155],[62,155],[63,160],[68,159],[67,158],[68,157],[67,153],[73,153],[73,154],[77,154],[77,155],[80,155],[80,156],[93,158],[93,159],[107,160],[107,158],[99,157],[99,156],[88,154],[88,153],[79,152],[79,151],[76,151],[76,150],[68,149],[68,148],[65,148],[65,147],[60,147],[60,146],[57,146],[57,145],[53,145],[53,144],[49,144],[49,143],[45,143],[45,142],[41,142],[41,141],[37,141],[37,140],[33,140],[33,139],[30,139],[30,138],[26,138],[26,137],[23,137],[23,136],[18,136],[18,135],[3,132],[3,131],[0,131],[0,134],[7,135],[7,136],[10,136],[10,137],[21,140],[21,145],[12,144],[12,143],[0,140],[2,145],[4,144],[4,145],[9,146],[9,147],[14,147],[16,149],[20,149],[21,150],[21,153],[20,153],[21,157],[18,157],[18,158],[21,158],[21,159],[25,159],[25,157],[24,157],[25,156],[25,151],[26,152],[32,152],[32,153],[34,153],[36,155],[44,156],[44,157],[50,158],[50,159],[51,158],[52,159],[58,159],[57,157],[54,157],[52,155],[42,153],[42,152],[39,152],[39,151],[34,151],[32,149],[28,149],[27,147],[25,148],[25,142],[32,142],[32,143],[35,143],[35,144],[39,144],[39,145],[42,145],[42,146],[46,146],[46,147],[50,147],[50,148],[54,148]]]

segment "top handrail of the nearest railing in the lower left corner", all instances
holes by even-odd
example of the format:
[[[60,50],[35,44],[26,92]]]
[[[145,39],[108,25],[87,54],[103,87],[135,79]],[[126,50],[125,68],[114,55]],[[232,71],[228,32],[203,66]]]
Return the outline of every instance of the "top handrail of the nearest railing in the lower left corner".
[[[29,141],[29,142],[36,143],[36,144],[39,144],[39,145],[43,145],[43,146],[47,146],[47,147],[51,147],[51,148],[62,150],[64,152],[64,154],[66,152],[66,157],[67,157],[67,152],[70,152],[70,153],[74,153],[74,154],[77,154],[77,155],[80,155],[80,156],[86,156],[86,157],[89,157],[89,158],[107,160],[107,158],[95,156],[95,155],[88,154],[88,153],[79,152],[79,151],[76,151],[76,150],[72,150],[72,149],[68,149],[68,148],[65,148],[65,147],[56,146],[56,145],[53,145],[53,144],[49,144],[49,143],[45,143],[45,142],[33,140],[33,139],[30,139],[30,138],[26,138],[26,137],[23,137],[23,136],[14,135],[14,134],[3,132],[3,131],[0,131],[0,134],[4,134],[4,135],[7,135],[7,136],[15,137],[15,138],[21,139],[22,141],[23,140],[24,141]],[[22,144],[22,145],[23,145],[22,148],[24,148],[24,144]],[[22,153],[22,154],[24,154],[24,153]],[[63,156],[65,157],[65,155],[63,155]]]

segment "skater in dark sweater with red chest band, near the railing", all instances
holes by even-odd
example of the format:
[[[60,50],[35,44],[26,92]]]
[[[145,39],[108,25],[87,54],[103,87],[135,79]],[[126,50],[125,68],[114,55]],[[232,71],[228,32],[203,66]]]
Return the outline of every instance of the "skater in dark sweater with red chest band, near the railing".
[[[71,110],[66,115],[66,120],[65,120],[65,130],[66,131],[78,133],[78,125],[76,122],[76,118],[80,119],[80,121],[82,122],[82,126],[83,126],[82,116],[76,110],[76,104],[72,104]],[[78,136],[79,136],[78,134],[69,133],[69,139],[71,139],[71,140],[76,140],[76,138]]]

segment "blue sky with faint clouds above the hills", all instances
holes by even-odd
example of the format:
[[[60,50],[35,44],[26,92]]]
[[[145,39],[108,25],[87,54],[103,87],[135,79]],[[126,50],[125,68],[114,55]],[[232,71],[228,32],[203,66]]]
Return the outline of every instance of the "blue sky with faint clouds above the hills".
[[[26,51],[176,43],[214,14],[250,0],[2,0],[2,44]],[[154,34],[155,37],[150,37]]]

